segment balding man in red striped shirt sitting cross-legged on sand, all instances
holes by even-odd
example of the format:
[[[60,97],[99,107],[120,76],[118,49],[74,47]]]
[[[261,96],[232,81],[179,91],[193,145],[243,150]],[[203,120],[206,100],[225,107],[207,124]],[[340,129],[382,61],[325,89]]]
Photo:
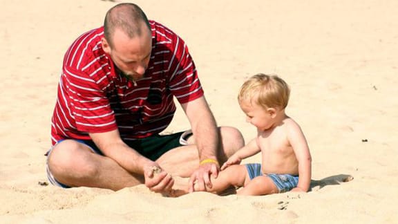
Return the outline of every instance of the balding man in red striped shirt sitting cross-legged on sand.
[[[176,111],[173,97],[192,132],[160,136]],[[173,187],[172,176],[206,190],[219,162],[244,145],[237,129],[216,127],[184,41],[133,3],[111,8],[104,27],[66,52],[51,135],[53,185],[118,190],[144,183],[162,193]]]

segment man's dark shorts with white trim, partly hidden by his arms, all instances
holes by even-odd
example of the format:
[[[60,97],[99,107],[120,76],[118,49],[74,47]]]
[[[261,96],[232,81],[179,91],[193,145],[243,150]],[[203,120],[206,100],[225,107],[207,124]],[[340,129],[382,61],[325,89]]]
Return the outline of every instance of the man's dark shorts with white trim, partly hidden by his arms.
[[[142,140],[132,140],[125,142],[126,144],[129,145],[129,147],[132,147],[140,154],[142,154],[142,156],[145,156],[146,158],[155,161],[167,151],[188,144],[187,139],[191,135],[192,135],[191,131],[185,131],[185,132],[178,132],[164,136],[155,135],[148,138],[144,138]],[[64,140],[59,140],[57,144],[59,144],[59,142],[62,141]],[[91,140],[75,140],[75,141],[86,144],[91,149],[91,151],[93,151],[93,153],[104,156],[104,154],[97,148],[97,146],[95,146],[93,141]],[[46,153],[47,158],[50,155],[51,151],[53,151],[55,145],[51,147],[50,150],[47,151]],[[51,174],[48,164],[46,164],[46,172],[47,172],[48,181],[50,181],[51,184],[58,187],[70,188],[68,185],[64,185],[63,183],[60,183],[58,180],[54,178],[53,174]]]

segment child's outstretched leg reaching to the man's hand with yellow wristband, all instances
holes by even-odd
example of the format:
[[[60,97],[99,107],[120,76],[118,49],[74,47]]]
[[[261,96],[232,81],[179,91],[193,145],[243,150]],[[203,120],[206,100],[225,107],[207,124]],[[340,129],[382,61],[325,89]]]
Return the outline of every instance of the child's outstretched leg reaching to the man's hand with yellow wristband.
[[[211,178],[211,184],[213,186],[207,188],[207,192],[221,194],[230,187],[243,187],[245,185],[245,180],[248,178],[249,175],[247,174],[245,165],[232,165],[220,171],[217,178]]]

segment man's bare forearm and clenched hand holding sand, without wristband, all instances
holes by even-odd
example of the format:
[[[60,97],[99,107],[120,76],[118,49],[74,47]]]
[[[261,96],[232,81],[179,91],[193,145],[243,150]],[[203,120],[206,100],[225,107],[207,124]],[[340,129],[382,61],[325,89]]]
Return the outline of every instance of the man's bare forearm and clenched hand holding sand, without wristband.
[[[120,138],[119,131],[90,133],[90,137],[102,153],[115,160],[120,167],[131,174],[144,176],[146,187],[149,187],[153,192],[169,192],[173,186],[173,178],[165,171],[153,176],[152,167],[159,167],[159,165],[124,143]]]

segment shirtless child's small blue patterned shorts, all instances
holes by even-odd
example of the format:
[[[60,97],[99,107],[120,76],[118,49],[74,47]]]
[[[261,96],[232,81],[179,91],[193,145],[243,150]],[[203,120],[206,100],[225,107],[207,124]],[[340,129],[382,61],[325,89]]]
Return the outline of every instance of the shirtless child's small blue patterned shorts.
[[[260,163],[249,163],[245,166],[249,173],[250,180],[257,176],[263,176]],[[294,187],[297,187],[297,184],[299,183],[299,176],[293,176],[290,174],[266,174],[265,176],[268,176],[272,181],[274,181],[279,193],[289,192]]]

